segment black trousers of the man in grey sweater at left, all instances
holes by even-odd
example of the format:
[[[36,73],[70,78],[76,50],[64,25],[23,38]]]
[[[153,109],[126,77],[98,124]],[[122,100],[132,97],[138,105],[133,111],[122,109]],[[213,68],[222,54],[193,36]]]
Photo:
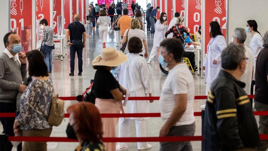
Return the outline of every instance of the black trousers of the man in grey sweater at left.
[[[16,112],[16,103],[5,103],[5,102],[0,102],[0,113],[14,113]],[[8,136],[14,136],[13,132],[13,125],[14,125],[14,120],[15,117],[0,117],[0,121],[3,125],[3,132]],[[6,144],[6,149],[7,151],[12,150],[13,145],[11,142],[7,142]]]

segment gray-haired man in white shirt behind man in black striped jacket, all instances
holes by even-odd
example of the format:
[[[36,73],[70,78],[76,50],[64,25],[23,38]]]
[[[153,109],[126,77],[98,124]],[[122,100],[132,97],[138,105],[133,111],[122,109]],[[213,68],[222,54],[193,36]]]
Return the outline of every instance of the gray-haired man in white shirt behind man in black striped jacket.
[[[245,46],[244,42],[246,41],[247,33],[244,28],[235,28],[234,34],[232,37],[232,42],[238,45],[242,45],[245,48],[245,55],[248,59],[245,72],[241,76],[240,81],[244,82],[246,84],[244,90],[249,95],[250,94],[250,88],[251,88],[251,81],[254,71],[254,55],[251,49],[249,49],[247,46]],[[252,99],[251,99],[252,101]],[[251,102],[252,104],[252,102]]]

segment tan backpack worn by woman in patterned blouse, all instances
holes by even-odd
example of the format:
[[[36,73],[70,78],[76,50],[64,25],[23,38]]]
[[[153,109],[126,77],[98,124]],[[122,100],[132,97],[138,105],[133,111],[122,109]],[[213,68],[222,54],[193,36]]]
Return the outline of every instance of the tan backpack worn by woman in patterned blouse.
[[[58,98],[58,94],[52,99],[48,116],[44,114],[38,105],[37,108],[46,118],[49,125],[59,126],[62,123],[62,120],[64,119],[64,101]]]

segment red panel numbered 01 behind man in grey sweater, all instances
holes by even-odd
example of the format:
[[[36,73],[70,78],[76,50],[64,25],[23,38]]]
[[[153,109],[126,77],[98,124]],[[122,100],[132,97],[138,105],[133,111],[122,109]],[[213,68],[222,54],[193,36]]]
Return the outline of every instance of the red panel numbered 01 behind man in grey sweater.
[[[10,28],[15,29],[23,46],[22,52],[32,49],[32,0],[10,0]]]

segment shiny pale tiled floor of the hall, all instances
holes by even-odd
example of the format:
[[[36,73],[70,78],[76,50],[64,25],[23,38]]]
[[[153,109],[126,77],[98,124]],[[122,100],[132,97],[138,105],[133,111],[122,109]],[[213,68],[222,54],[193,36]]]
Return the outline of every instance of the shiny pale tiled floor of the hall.
[[[50,74],[50,77],[53,79],[55,93],[58,93],[59,96],[76,96],[81,94],[89,85],[90,79],[94,78],[95,70],[92,68],[91,62],[92,60],[101,53],[101,42],[99,41],[98,31],[93,31],[93,37],[87,38],[86,40],[86,49],[83,52],[83,76],[74,76],[69,77],[70,73],[70,56],[69,50],[67,56],[63,59],[63,61],[55,60],[54,61],[54,69],[53,73]],[[149,53],[152,49],[153,45],[153,36],[150,33],[147,33],[147,43],[149,46]],[[108,41],[106,43],[106,47],[115,47],[115,33],[108,35]],[[115,47],[116,48],[116,47]],[[116,48],[118,49],[118,47]],[[119,50],[119,49],[118,49]],[[58,53],[59,50],[56,50],[55,54]],[[148,64],[151,74],[151,87],[153,96],[159,96],[161,92],[162,84],[166,79],[166,75],[161,73],[159,69],[159,64],[157,62],[157,58],[154,59],[152,64]],[[77,67],[77,59],[76,59],[76,68],[75,75],[78,73]],[[206,85],[204,83],[204,79],[201,79],[197,74],[193,74],[195,79],[195,95],[205,95]],[[194,111],[200,112],[200,105],[204,104],[205,100],[195,100],[194,101]],[[76,101],[66,101],[65,108],[67,108],[70,104],[76,103]],[[157,113],[159,110],[159,102],[154,101],[150,104],[150,112]],[[52,137],[66,137],[65,129],[69,122],[68,118],[65,118],[65,121],[58,127],[53,127]],[[162,121],[160,118],[150,118],[147,120],[147,136],[148,137],[157,137],[159,136],[159,130],[162,126]],[[135,123],[132,121],[130,127],[130,137],[136,137],[136,128]],[[195,135],[201,135],[201,117],[196,117],[196,132]],[[152,145],[152,149],[150,151],[158,151],[159,150],[159,142],[149,142]],[[72,151],[76,148],[78,143],[48,143],[49,151]],[[196,141],[192,142],[193,150],[198,151],[201,150],[201,142]],[[137,150],[136,143],[129,143],[128,151]]]

